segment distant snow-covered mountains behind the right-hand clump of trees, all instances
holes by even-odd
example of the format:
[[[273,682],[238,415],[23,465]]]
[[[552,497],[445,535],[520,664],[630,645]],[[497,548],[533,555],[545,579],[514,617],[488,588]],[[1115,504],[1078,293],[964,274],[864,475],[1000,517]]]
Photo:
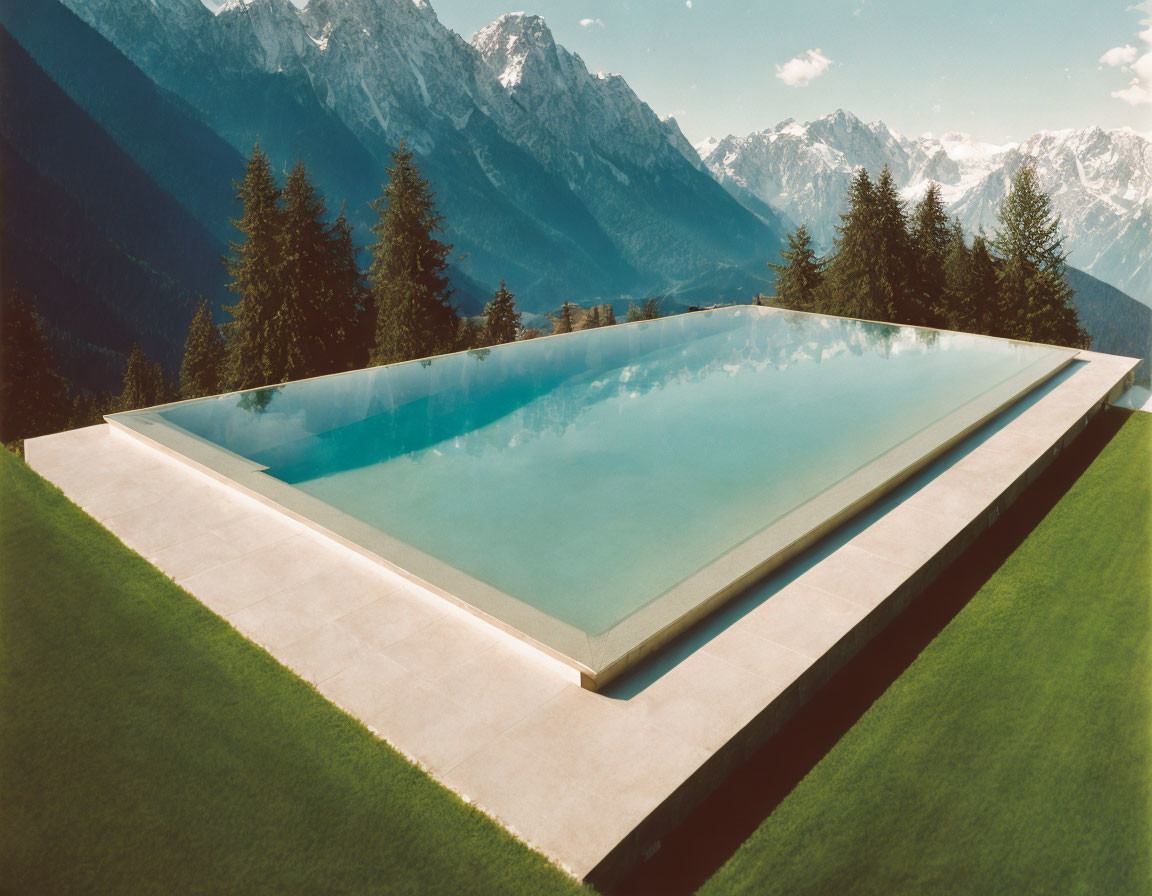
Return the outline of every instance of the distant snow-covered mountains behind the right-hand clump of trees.
[[[696,149],[750,210],[766,204],[794,226],[806,222],[824,249],[859,166],[874,175],[887,165],[908,200],[935,181],[949,211],[975,233],[994,228],[1011,176],[1030,161],[1061,217],[1069,263],[1152,304],[1152,141],[1131,130],[1044,131],[998,146],[955,132],[908,139],[840,109]]]

